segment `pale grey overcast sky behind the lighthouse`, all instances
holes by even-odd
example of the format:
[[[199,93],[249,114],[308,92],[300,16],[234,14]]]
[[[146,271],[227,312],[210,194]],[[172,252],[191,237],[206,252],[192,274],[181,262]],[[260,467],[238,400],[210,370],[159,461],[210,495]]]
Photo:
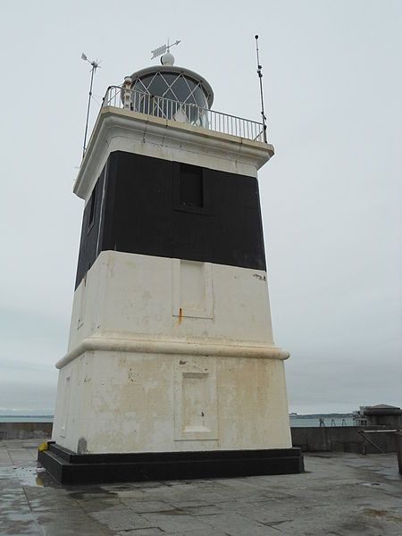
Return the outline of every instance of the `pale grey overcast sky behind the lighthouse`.
[[[214,109],[259,119],[255,33],[269,141],[260,172],[275,342],[289,410],[402,404],[399,0],[1,3],[0,408],[54,408],[70,328],[91,124],[109,85],[176,64],[214,88]]]

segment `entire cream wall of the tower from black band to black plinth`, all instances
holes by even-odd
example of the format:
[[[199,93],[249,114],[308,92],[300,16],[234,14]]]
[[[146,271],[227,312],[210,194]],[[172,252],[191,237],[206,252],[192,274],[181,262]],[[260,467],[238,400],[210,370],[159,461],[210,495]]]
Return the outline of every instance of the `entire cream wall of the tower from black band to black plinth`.
[[[286,357],[265,272],[102,252],[74,296],[53,439],[79,452],[288,448]]]

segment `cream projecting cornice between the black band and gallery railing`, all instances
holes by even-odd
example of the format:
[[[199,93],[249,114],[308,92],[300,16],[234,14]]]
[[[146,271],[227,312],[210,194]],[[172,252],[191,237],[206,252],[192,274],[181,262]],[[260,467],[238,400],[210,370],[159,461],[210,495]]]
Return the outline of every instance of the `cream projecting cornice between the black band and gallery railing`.
[[[97,117],[74,184],[78,197],[88,197],[108,155],[117,150],[184,163],[202,159],[205,167],[254,177],[273,155],[270,144],[106,106]]]

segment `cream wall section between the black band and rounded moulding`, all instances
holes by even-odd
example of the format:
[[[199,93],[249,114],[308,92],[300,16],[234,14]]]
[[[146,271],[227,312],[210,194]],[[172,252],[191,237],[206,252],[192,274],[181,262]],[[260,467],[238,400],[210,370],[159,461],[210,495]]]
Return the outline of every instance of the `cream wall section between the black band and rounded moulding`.
[[[194,265],[204,270],[198,309],[180,295],[187,274],[193,291],[197,286],[197,276],[187,270]],[[75,292],[69,351],[82,339],[107,334],[273,346],[266,272],[104,251]]]

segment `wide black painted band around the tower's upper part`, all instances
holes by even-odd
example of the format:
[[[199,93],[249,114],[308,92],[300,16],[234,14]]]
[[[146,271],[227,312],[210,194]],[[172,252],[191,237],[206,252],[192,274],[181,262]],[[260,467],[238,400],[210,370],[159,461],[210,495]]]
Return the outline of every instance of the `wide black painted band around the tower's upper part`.
[[[257,180],[113,152],[84,210],[76,288],[106,250],[265,270]]]

